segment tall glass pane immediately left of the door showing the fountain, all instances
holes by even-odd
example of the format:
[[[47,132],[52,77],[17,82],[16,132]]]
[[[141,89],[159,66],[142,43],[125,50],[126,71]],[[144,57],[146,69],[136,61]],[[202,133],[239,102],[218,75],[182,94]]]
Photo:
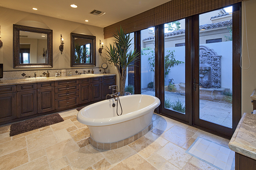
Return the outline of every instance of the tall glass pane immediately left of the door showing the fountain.
[[[164,108],[185,114],[185,19],[164,27]]]

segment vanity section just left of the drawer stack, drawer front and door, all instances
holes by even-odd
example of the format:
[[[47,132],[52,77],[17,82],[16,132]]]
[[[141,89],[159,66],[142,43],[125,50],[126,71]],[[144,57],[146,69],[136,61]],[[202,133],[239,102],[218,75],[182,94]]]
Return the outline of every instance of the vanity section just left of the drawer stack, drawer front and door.
[[[54,82],[37,83],[37,113],[55,110]]]

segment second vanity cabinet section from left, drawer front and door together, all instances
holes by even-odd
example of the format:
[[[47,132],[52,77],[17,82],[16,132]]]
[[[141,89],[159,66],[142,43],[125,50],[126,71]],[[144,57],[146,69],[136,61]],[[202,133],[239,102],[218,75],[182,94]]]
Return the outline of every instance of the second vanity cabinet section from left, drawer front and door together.
[[[37,84],[17,85],[17,117],[30,116],[37,113]]]

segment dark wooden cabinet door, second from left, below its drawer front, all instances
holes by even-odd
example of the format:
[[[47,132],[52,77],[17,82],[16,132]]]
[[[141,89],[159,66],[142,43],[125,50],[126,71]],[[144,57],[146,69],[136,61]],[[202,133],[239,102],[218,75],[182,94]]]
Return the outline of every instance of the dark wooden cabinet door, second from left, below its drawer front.
[[[17,92],[17,117],[25,117],[36,114],[37,111],[36,90]]]

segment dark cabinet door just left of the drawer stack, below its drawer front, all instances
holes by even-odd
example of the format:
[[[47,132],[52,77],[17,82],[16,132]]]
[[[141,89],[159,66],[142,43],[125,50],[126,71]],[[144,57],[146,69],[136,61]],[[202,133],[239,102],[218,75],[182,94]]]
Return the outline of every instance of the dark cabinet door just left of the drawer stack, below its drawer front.
[[[55,109],[54,88],[37,90],[37,112],[44,113]]]

